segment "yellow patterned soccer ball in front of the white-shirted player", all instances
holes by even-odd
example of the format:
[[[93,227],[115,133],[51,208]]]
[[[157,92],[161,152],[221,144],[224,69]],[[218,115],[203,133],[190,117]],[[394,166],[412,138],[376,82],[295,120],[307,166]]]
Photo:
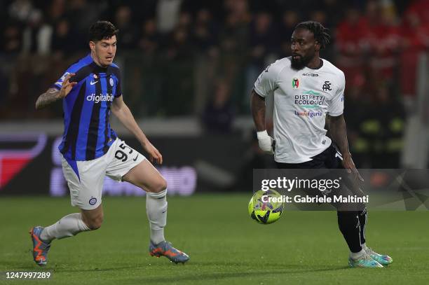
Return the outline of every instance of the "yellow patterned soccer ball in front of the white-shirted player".
[[[262,198],[264,196],[264,199]],[[282,215],[282,202],[268,202],[268,197],[281,197],[280,193],[275,190],[263,191],[259,190],[254,193],[249,201],[250,217],[258,223],[268,224],[274,223]],[[266,201],[266,202],[263,202]]]

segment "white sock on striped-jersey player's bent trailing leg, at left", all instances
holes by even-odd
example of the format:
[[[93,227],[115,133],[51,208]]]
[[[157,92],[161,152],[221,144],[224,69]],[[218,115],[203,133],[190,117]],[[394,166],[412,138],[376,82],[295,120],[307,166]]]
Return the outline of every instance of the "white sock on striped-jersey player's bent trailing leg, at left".
[[[40,238],[43,241],[50,242],[53,239],[72,237],[86,230],[90,230],[90,228],[86,223],[83,223],[81,213],[74,213],[64,216],[57,223],[44,228]]]

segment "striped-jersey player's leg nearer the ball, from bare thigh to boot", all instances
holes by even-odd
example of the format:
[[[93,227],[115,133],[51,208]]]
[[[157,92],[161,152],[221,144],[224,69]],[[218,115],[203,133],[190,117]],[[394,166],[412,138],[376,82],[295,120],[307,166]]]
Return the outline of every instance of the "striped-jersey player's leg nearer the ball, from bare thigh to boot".
[[[128,181],[147,191],[146,212],[151,229],[149,253],[151,256],[165,256],[174,263],[185,263],[189,256],[175,249],[170,242],[165,241],[164,228],[167,224],[167,182],[151,165],[143,160],[123,176]]]

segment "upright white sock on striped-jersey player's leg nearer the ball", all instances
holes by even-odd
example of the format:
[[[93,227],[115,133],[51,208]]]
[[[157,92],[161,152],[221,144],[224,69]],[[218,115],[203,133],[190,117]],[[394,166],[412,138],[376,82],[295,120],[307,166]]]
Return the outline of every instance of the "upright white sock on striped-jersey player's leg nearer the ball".
[[[151,226],[151,241],[159,244],[165,240],[164,227],[167,224],[167,189],[159,193],[147,193],[146,214]]]

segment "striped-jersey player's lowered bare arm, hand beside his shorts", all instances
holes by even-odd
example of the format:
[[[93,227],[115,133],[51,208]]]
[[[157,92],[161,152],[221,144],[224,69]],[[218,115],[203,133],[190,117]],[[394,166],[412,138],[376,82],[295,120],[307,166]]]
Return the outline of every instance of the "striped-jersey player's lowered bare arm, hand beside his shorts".
[[[144,151],[149,154],[149,158],[151,162],[154,160],[160,165],[163,164],[163,155],[155,148],[154,145],[151,144],[149,139],[147,139],[146,135],[144,135],[142,129],[140,129],[139,125],[135,121],[134,116],[128,106],[123,102],[122,95],[116,97],[114,102],[111,104],[111,112],[121,121],[121,123],[129,130],[134,136],[138,139],[140,144],[142,145]]]

